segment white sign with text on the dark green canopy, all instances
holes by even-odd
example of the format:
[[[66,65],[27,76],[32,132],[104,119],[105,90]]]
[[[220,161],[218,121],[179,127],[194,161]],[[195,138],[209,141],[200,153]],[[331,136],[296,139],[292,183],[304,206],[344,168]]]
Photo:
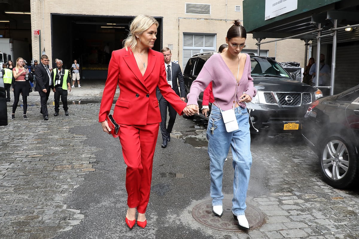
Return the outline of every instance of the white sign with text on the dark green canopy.
[[[268,20],[298,8],[298,0],[266,0],[265,18]]]

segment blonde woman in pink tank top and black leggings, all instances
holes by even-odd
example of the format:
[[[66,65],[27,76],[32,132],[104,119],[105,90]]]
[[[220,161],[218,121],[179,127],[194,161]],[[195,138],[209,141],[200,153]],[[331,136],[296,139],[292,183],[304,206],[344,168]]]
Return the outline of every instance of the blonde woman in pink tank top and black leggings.
[[[16,59],[16,67],[13,68],[13,76],[15,81],[13,83],[14,91],[14,104],[13,104],[13,114],[11,119],[15,119],[15,111],[18,107],[20,94],[23,97],[23,106],[24,106],[24,119],[27,119],[27,97],[29,95],[29,82],[25,80],[25,75],[29,74],[29,70],[24,68],[24,59],[19,57]]]

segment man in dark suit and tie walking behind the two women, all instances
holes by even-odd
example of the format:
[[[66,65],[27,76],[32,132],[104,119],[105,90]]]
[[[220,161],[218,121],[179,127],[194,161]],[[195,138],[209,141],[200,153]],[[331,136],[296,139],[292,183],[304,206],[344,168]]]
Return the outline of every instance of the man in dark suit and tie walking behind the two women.
[[[176,92],[176,94],[181,97],[181,100],[185,101],[186,88],[185,88],[185,81],[183,80],[181,67],[179,64],[171,62],[172,53],[169,48],[165,47],[161,50],[161,52],[164,57],[164,67],[166,70],[167,82],[169,85],[171,85],[172,90],[174,90],[174,92]],[[178,84],[180,85],[181,95],[180,95],[180,91],[178,90]],[[156,91],[156,96],[159,102],[159,110],[161,112],[161,118],[162,118],[162,121],[160,123],[160,128],[161,128],[163,143],[161,147],[166,148],[168,142],[171,140],[170,134],[172,132],[174,121],[176,120],[177,112],[176,110],[173,109],[171,104],[169,104],[167,100],[163,98],[158,88]],[[167,107],[168,107],[169,120],[168,120],[168,126],[166,128]]]

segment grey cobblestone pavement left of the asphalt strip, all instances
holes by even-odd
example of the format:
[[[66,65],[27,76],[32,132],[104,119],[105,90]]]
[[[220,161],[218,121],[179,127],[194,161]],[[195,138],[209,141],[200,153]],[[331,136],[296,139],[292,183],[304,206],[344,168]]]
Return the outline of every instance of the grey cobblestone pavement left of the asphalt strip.
[[[79,105],[79,101],[101,99],[91,96],[90,87],[89,96],[79,97],[74,94],[76,90],[81,89],[74,89],[68,96],[69,104],[74,101],[69,105],[69,116],[65,116],[62,105],[60,115],[53,116],[51,93],[50,120],[44,121],[38,92],[31,92],[29,119],[22,119],[21,105],[16,119],[0,126],[0,238],[52,238],[54,232],[70,230],[84,218],[80,210],[68,208],[64,198],[78,187],[85,174],[95,170],[92,164],[96,148],[83,145],[87,137],[71,134],[69,129],[97,123],[94,116],[99,104]],[[13,99],[8,103],[9,119],[12,103]]]

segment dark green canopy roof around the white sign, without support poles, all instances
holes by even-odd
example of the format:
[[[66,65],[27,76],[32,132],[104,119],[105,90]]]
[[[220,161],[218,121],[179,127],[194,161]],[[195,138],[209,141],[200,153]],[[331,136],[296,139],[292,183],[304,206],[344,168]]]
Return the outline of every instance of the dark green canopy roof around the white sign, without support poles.
[[[316,30],[317,23],[325,28],[333,27],[330,16],[328,18],[330,11],[334,19],[341,19],[339,26],[358,23],[357,6],[357,0],[298,0],[296,10],[265,20],[263,0],[243,0],[243,25],[253,38],[285,38]],[[295,38],[313,37],[308,34]]]

